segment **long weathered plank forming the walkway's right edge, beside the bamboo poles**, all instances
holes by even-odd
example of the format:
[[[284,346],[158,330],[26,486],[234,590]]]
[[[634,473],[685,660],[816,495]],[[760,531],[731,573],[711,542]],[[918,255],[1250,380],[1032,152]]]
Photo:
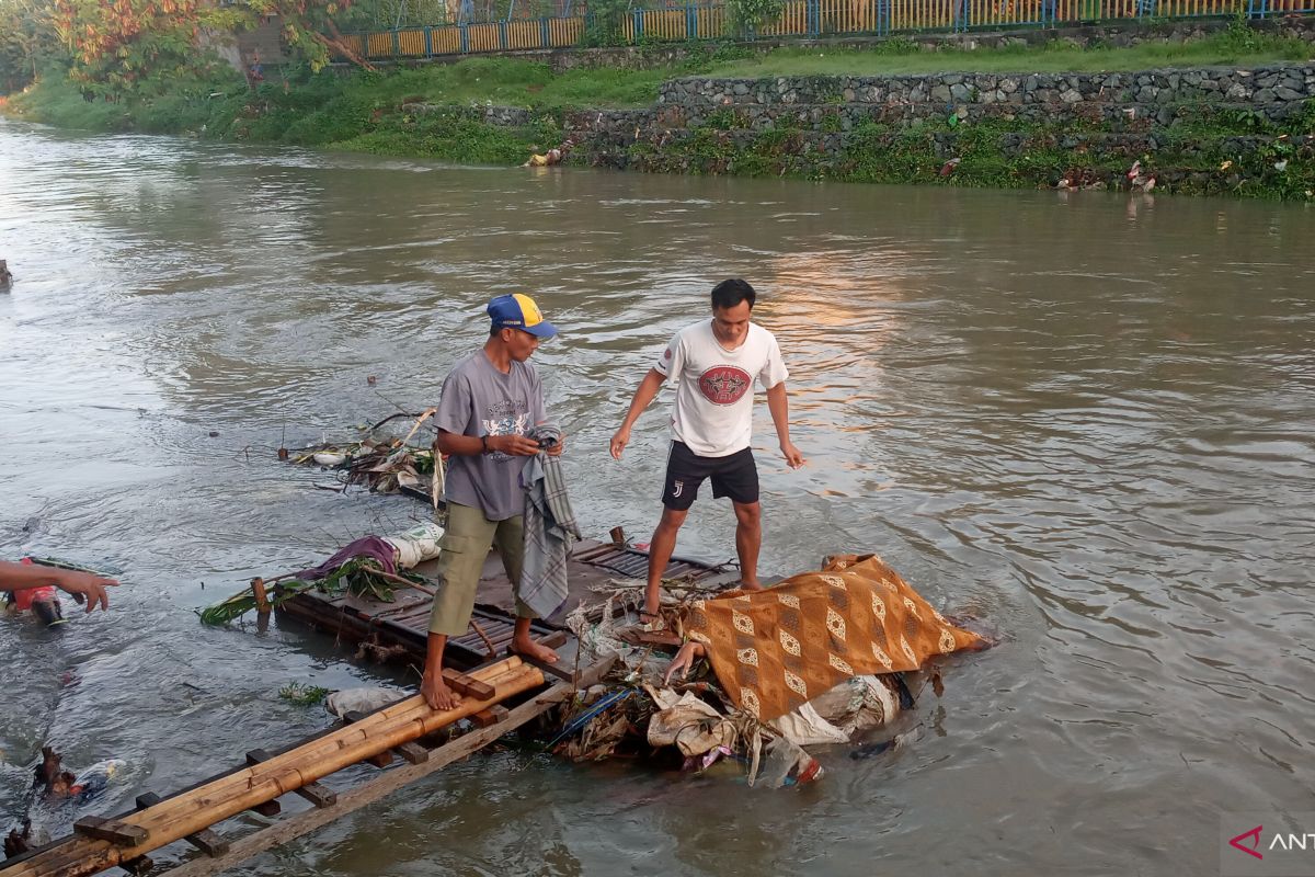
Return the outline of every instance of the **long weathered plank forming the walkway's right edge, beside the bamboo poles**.
[[[193,859],[168,872],[170,877],[209,877],[218,874],[237,865],[251,856],[277,847],[295,838],[300,838],[310,831],[321,828],[334,819],[392,794],[397,789],[409,785],[430,773],[459,761],[468,755],[484,748],[508,731],[514,731],[530,719],[534,719],[556,703],[571,697],[573,689],[569,685],[559,684],[531,698],[521,706],[510,710],[506,718],[487,728],[479,728],[466,734],[451,743],[447,743],[430,752],[430,757],[423,764],[409,764],[406,767],[389,770],[370,780],[362,786],[343,792],[338,795],[338,803],[323,810],[306,810],[293,817],[288,817],[276,826],[262,828],[246,838],[233,841],[233,848],[220,859]]]

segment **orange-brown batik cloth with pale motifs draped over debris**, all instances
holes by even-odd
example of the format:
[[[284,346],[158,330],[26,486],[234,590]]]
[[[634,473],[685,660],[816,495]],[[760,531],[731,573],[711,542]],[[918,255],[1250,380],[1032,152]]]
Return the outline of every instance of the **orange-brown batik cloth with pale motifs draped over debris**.
[[[735,705],[761,722],[852,676],[913,671],[935,655],[986,646],[876,555],[831,559],[822,572],[767,590],[694,601],[685,632],[707,647]]]

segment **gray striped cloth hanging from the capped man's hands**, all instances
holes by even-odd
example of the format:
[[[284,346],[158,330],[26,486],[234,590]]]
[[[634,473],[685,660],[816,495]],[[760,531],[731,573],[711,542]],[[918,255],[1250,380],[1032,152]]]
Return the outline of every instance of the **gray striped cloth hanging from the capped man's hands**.
[[[554,423],[540,423],[530,438],[548,448],[562,440]],[[521,602],[539,618],[547,618],[567,601],[567,557],[571,539],[580,538],[575,511],[567,497],[562,460],[539,451],[523,469],[525,486],[525,560],[521,565]]]

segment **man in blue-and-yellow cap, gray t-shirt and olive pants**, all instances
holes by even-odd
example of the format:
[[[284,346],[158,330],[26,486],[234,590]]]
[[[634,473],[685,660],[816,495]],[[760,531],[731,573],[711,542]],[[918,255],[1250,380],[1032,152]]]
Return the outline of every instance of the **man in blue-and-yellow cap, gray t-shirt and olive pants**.
[[[460,698],[443,681],[443,650],[448,636],[460,636],[475,611],[475,590],[484,557],[497,548],[517,590],[512,651],[542,661],[556,653],[530,638],[535,617],[519,600],[525,551],[525,490],[521,469],[539,452],[527,434],[547,421],[543,385],[527,362],[539,339],[556,329],[525,295],[498,296],[488,305],[492,320],[484,347],[452,368],[443,381],[443,398],[434,423],[437,450],[450,455],[447,468],[447,530],[438,568],[442,577],[429,621],[429,651],[419,692],[437,710]],[[559,442],[547,451],[562,454]]]

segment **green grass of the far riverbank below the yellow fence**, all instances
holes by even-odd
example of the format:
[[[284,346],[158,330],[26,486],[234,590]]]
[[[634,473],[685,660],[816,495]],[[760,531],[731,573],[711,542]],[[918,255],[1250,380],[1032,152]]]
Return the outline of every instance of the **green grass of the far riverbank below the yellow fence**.
[[[431,156],[452,162],[518,164],[531,150],[556,145],[572,109],[650,107],[659,85],[680,76],[761,79],[798,75],[880,76],[897,74],[974,72],[1084,72],[1141,71],[1210,64],[1255,66],[1306,60],[1311,43],[1298,38],[1258,33],[1241,25],[1206,38],[1180,43],[1141,43],[1128,49],[1088,47],[1066,42],[1048,46],[1009,46],[928,51],[913,42],[892,39],[867,49],[781,49],[755,55],[735,46],[705,46],[680,64],[661,68],[592,68],[552,74],[547,64],[514,58],[471,58],[454,64],[426,64],[379,72],[350,74],[305,70],[274,72],[251,91],[231,70],[216,67],[212,78],[156,84],[154,92],[124,97],[120,103],[87,103],[59,74],[47,74],[33,88],[8,101],[8,113],[68,128],[93,130],[172,133],[208,139],[313,146],[391,155]],[[406,108],[423,103],[429,112]],[[483,108],[530,109],[523,125],[492,125]],[[1278,138],[1315,128],[1315,110],[1291,122],[1274,124],[1256,114],[1193,110],[1172,135],[1161,138],[1187,171],[1230,162],[1224,138]],[[1303,128],[1304,126],[1304,128]],[[873,125],[853,131],[848,160],[819,166],[809,160],[782,160],[781,150],[803,142],[807,131],[776,131],[765,138],[727,135],[727,126],[705,124],[690,137],[672,143],[668,154],[652,147],[631,147],[635,160],[621,166],[682,172],[743,175],[797,175],[871,181],[940,181],[936,170],[947,147],[968,153],[951,180],[969,185],[1038,185],[1053,181],[1084,164],[1085,146],[1065,146],[1066,131],[1027,122],[992,122],[955,130],[923,125],[902,130]],[[1099,130],[1094,128],[1093,130]],[[1068,131],[1069,134],[1072,131]],[[734,134],[734,131],[731,131]],[[1006,154],[1001,137],[1036,143],[1035,149]],[[1261,150],[1261,158],[1282,160],[1282,143]],[[1315,180],[1307,179],[1308,162],[1295,159],[1285,180],[1247,185],[1226,174],[1218,184],[1186,176],[1177,191],[1235,191],[1269,197],[1307,197]],[[1106,168],[1112,172],[1111,167]],[[1118,160],[1122,162],[1122,158]],[[1091,163],[1088,158],[1086,163]],[[1239,163],[1240,164],[1240,163]],[[1226,168],[1227,170],[1227,168]],[[1301,171],[1298,174],[1297,171]]]

